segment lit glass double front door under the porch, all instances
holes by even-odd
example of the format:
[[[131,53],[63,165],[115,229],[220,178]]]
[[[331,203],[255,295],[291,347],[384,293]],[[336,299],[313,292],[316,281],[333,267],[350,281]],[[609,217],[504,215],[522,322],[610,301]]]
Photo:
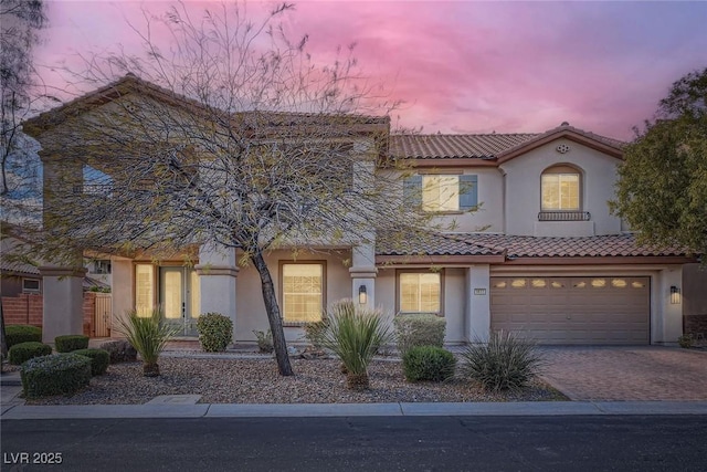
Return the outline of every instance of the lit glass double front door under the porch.
[[[165,322],[177,326],[177,336],[197,336],[199,276],[188,268],[160,268],[160,306]]]

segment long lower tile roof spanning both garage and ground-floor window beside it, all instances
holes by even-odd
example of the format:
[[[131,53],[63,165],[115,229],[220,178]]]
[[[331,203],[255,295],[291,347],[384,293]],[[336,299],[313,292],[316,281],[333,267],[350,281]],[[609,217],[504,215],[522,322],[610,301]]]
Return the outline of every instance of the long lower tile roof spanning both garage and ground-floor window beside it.
[[[486,233],[435,234],[412,250],[379,242],[377,255],[502,255],[516,258],[684,256],[677,248],[639,244],[633,234],[587,238],[521,237]]]

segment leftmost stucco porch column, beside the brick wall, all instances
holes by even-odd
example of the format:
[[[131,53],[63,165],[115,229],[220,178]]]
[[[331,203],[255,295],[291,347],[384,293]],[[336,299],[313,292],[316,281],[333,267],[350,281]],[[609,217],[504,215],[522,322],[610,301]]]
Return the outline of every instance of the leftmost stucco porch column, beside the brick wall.
[[[54,344],[56,336],[84,334],[82,266],[41,266],[42,342]]]

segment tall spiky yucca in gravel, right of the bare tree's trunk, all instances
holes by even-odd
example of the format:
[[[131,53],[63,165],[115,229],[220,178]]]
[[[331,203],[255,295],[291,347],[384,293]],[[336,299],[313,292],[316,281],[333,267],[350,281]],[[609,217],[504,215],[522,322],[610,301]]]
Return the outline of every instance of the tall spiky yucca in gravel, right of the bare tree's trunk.
[[[368,365],[378,348],[390,340],[390,326],[376,310],[358,308],[352,301],[334,303],[321,344],[341,360],[347,385],[352,390],[370,388]]]

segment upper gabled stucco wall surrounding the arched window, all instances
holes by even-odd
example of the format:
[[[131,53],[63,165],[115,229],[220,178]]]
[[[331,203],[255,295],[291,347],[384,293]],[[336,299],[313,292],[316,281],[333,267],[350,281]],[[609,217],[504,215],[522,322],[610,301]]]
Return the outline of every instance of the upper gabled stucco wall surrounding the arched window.
[[[556,148],[561,144],[568,145],[570,150],[566,154],[558,153]],[[614,196],[613,185],[619,160],[579,143],[560,138],[500,165],[506,172],[506,233],[535,235],[540,211],[540,176],[548,167],[562,164],[581,170],[581,210],[591,213],[594,234],[621,232],[621,220],[609,213],[606,204]],[[558,235],[568,235],[562,231],[564,222],[552,224],[557,225]]]

